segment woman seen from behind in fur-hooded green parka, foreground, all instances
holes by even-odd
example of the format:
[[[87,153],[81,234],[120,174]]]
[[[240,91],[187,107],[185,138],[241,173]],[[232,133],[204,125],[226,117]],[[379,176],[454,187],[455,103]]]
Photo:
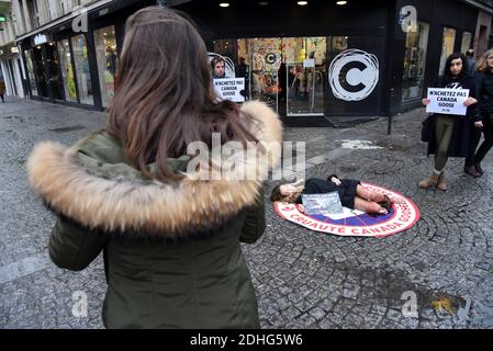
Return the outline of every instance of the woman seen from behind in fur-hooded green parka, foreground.
[[[125,33],[105,129],[70,148],[43,143],[29,159],[32,188],[58,215],[49,256],[82,270],[103,252],[109,328],[259,327],[239,242],[264,233],[262,181],[195,179],[187,151],[214,133],[280,143],[279,118],[259,102],[219,101],[205,45],[179,13],[145,8]],[[247,167],[266,152],[277,163],[266,145]]]

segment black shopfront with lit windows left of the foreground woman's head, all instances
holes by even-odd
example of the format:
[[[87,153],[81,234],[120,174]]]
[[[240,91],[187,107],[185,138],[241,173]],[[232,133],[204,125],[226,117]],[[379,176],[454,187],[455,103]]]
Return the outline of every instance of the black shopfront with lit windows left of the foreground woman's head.
[[[114,95],[125,20],[145,4],[135,0],[98,2],[103,4],[18,39],[31,99],[88,110],[108,107]]]

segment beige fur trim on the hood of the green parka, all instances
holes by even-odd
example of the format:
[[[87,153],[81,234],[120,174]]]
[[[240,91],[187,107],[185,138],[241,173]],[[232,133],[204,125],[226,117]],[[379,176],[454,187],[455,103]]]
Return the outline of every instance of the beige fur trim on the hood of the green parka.
[[[254,118],[249,131],[268,145],[254,158],[248,157],[246,165],[258,165],[259,158],[266,159],[259,156],[269,152],[271,170],[280,161],[280,148],[269,146],[282,140],[279,117],[257,101],[245,103],[242,111]],[[88,170],[77,154],[77,145],[66,148],[53,141],[38,144],[27,160],[30,184],[55,212],[103,231],[180,237],[210,230],[259,201],[262,186],[261,180],[234,177],[210,181],[187,177],[173,184],[124,176],[108,178]]]

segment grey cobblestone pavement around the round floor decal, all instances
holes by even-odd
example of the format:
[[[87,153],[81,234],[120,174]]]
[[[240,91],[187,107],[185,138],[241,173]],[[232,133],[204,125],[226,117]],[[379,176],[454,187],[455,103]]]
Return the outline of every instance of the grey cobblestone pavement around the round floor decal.
[[[423,117],[422,109],[395,117],[390,136],[384,118],[345,129],[285,129],[285,140],[306,143],[306,177],[381,184],[413,199],[421,219],[388,238],[337,237],[281,220],[266,197],[267,230],[243,246],[262,327],[493,328],[493,157],[480,179],[452,159],[447,192],[417,189],[430,170],[419,141]],[[81,272],[51,263],[55,217],[30,191],[25,160],[35,143],[69,145],[104,123],[93,111],[15,99],[0,104],[0,328],[102,327],[102,259]],[[72,313],[78,292],[88,298],[87,316]],[[417,297],[417,318],[402,313],[405,292]],[[434,308],[440,299],[451,308]]]

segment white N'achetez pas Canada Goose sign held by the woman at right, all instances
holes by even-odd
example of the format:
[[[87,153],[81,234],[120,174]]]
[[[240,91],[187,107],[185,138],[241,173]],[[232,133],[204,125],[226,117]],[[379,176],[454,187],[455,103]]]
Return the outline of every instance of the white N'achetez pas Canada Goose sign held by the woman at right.
[[[463,102],[469,98],[469,89],[428,88],[426,112],[466,115]]]

